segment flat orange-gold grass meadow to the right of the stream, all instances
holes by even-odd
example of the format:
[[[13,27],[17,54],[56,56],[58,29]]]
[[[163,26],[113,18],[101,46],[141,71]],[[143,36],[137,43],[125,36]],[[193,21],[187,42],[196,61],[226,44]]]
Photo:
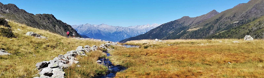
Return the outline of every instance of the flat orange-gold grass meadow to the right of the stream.
[[[118,72],[117,78],[263,78],[263,40],[238,40],[241,43],[232,43],[234,40],[165,40],[166,43],[156,44],[154,40],[130,41],[128,44],[142,45],[149,42],[146,45],[153,47],[115,48],[110,51],[110,59],[115,64],[128,67]]]

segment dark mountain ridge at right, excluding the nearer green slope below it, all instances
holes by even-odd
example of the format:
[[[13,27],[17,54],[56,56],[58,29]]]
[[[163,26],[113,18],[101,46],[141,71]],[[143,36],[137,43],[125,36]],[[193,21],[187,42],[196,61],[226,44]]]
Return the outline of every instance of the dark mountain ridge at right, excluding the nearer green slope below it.
[[[264,1],[251,0],[238,4],[221,13],[215,10],[194,18],[184,16],[175,21],[164,23],[149,32],[131,37],[121,42],[141,39],[202,39],[250,23],[264,15]]]

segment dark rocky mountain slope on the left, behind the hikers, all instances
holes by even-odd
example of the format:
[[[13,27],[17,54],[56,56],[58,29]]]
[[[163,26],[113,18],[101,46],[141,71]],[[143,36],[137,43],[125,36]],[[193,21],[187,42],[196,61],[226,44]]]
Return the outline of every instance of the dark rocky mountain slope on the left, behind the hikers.
[[[62,36],[66,36],[67,31],[70,32],[70,35],[77,33],[70,25],[56,19],[52,14],[34,15],[23,9],[19,9],[15,4],[4,5],[0,3],[0,17],[34,28],[49,30],[52,33],[57,33]],[[79,34],[75,36],[80,37]]]

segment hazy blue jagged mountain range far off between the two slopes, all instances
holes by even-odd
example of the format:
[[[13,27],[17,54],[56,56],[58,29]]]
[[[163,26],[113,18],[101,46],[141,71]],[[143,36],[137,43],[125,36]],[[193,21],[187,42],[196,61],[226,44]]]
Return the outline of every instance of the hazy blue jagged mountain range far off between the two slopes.
[[[110,26],[106,24],[91,25],[89,23],[82,25],[72,25],[72,28],[77,30],[80,35],[85,35],[94,39],[102,39],[109,41],[120,41],[126,38],[144,34],[149,30],[160,26],[160,24],[140,25],[140,26]]]

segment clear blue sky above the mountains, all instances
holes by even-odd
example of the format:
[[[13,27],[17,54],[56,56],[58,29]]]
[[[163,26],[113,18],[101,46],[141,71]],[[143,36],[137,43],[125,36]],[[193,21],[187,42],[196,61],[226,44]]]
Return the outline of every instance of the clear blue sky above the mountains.
[[[249,0],[0,0],[16,4],[29,13],[53,14],[70,25],[108,24],[136,26],[163,24],[181,18],[196,17],[216,10],[231,9]]]

